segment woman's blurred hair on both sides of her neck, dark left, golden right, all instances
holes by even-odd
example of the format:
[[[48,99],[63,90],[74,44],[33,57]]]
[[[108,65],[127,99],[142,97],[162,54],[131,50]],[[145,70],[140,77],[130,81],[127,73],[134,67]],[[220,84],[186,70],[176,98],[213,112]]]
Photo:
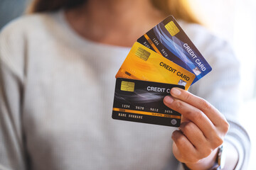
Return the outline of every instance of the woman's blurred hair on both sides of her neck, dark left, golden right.
[[[139,1],[139,0],[138,0]],[[57,11],[61,8],[75,8],[85,4],[87,0],[34,0],[28,8],[28,13]],[[188,0],[151,0],[151,3],[166,15],[188,23],[199,23]]]

